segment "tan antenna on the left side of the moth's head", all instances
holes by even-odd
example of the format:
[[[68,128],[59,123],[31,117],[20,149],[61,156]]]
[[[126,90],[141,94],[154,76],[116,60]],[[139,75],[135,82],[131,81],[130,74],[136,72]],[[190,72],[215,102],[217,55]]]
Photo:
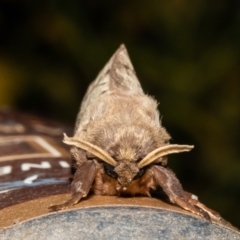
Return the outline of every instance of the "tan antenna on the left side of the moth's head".
[[[92,153],[94,156],[100,158],[104,162],[106,162],[114,167],[117,165],[116,161],[107,152],[105,152],[98,146],[93,145],[90,142],[86,142],[86,141],[79,140],[76,138],[70,138],[65,133],[63,134],[63,136],[64,136],[63,142],[65,144],[72,145],[72,146],[81,148],[85,151],[88,151],[89,153]]]

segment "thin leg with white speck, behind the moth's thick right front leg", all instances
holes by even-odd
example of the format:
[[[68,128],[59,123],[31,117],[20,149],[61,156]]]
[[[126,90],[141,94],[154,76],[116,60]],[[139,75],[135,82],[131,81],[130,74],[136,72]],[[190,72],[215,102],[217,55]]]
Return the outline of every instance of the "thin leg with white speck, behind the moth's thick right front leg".
[[[217,221],[222,219],[218,212],[208,208],[203,203],[199,202],[198,197],[196,195],[186,191],[184,191],[184,194],[185,194],[185,197],[188,199],[189,203],[207,212],[211,219],[217,220]]]

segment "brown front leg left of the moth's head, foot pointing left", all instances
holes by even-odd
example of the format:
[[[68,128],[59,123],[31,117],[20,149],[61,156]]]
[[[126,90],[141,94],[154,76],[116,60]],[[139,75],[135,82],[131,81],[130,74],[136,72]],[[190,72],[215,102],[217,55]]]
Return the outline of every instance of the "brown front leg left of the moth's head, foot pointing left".
[[[71,183],[72,197],[67,202],[50,206],[49,209],[57,211],[78,203],[81,198],[86,197],[95,178],[96,166],[94,161],[84,161],[78,167]]]

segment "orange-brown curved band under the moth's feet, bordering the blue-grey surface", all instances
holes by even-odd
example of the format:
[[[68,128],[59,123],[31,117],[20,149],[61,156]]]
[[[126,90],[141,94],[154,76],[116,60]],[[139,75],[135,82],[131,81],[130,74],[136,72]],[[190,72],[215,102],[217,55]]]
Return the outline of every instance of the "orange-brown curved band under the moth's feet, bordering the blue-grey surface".
[[[50,214],[48,207],[51,205],[60,204],[69,199],[70,194],[59,194],[49,197],[34,199],[31,201],[19,203],[10,207],[6,207],[0,212],[0,230],[9,227],[13,224],[26,221],[38,216]],[[74,205],[69,209],[83,209],[96,206],[137,206],[142,208],[158,208],[167,211],[184,213],[186,215],[195,216],[177,206],[170,205],[155,198],[136,197],[136,198],[121,198],[115,196],[95,196],[91,195],[89,198],[82,200],[80,203]],[[64,211],[64,210],[63,210]],[[219,222],[218,222],[219,224]],[[220,223],[222,226],[237,231],[231,224],[226,221]]]

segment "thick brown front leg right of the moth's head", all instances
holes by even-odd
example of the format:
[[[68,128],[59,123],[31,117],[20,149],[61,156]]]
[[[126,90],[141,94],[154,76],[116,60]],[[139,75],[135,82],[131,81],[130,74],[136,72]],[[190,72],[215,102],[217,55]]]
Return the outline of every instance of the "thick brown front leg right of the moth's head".
[[[154,165],[151,167],[151,170],[153,171],[155,183],[163,189],[171,203],[194,214],[210,219],[207,212],[188,201],[181,183],[170,169]]]

